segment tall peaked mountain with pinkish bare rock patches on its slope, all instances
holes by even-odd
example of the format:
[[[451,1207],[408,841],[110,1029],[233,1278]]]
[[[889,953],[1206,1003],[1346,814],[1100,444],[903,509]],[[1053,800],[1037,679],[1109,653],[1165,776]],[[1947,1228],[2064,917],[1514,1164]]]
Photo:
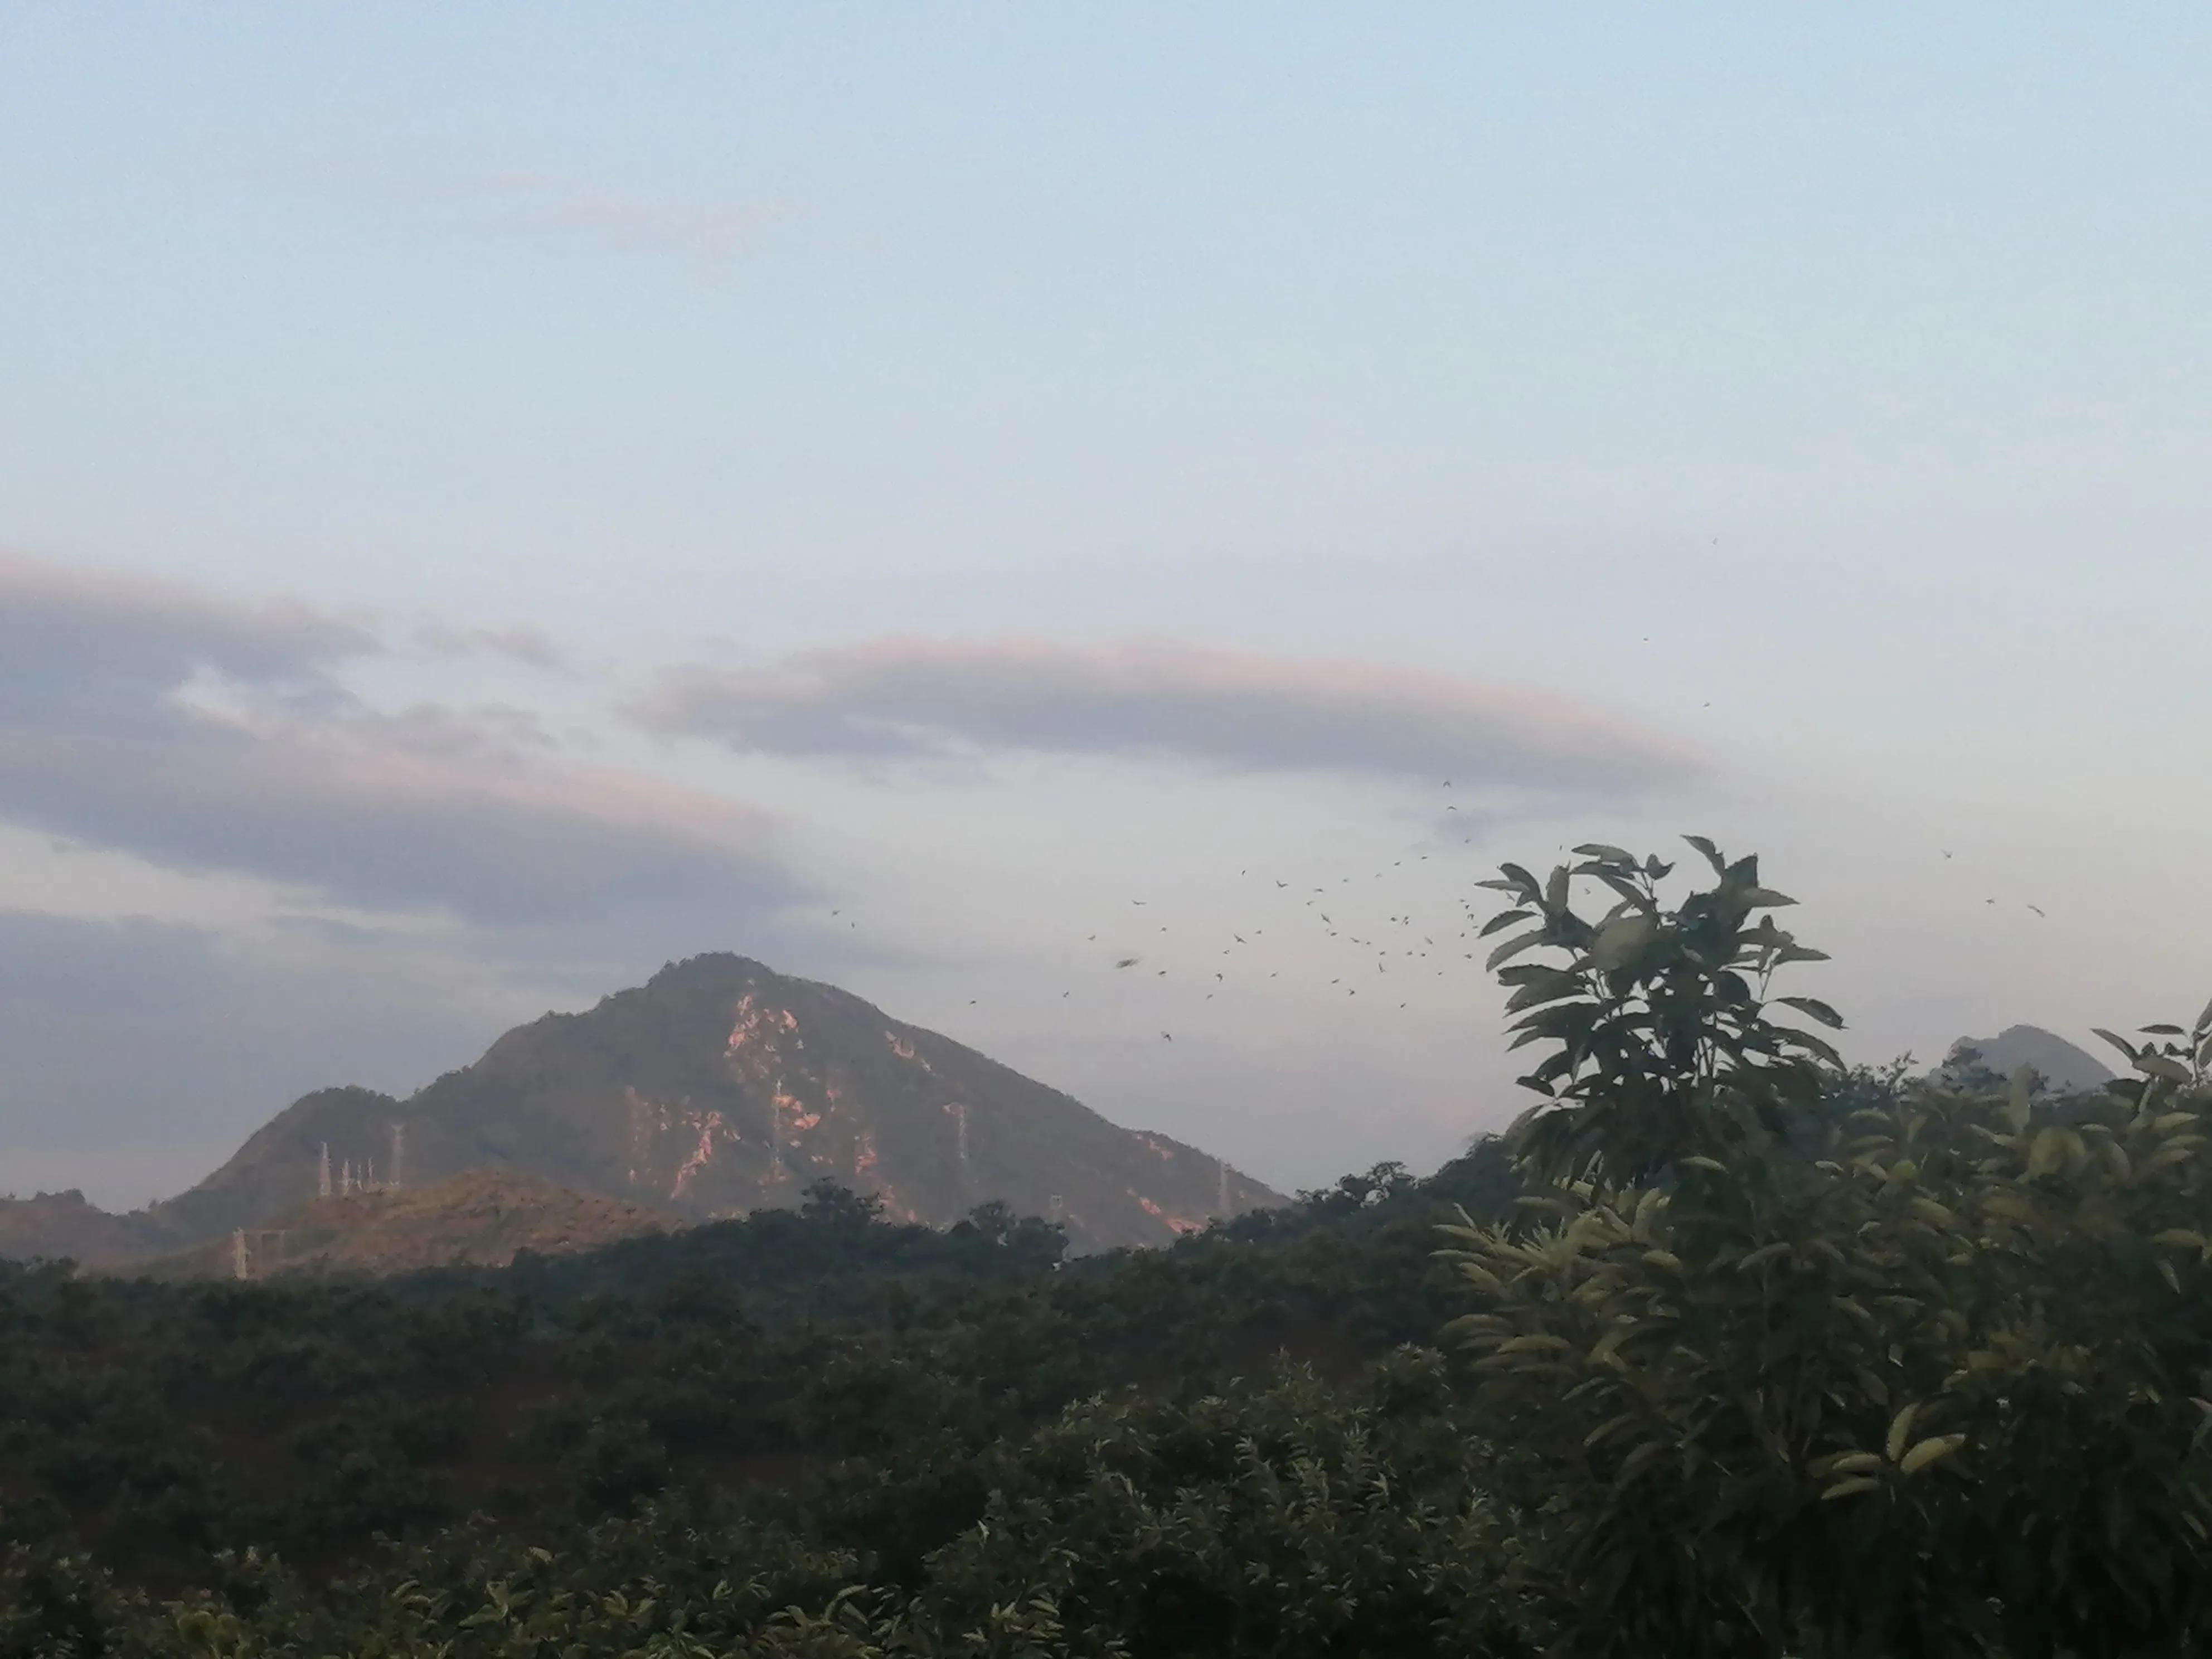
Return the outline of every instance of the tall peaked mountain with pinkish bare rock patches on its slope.
[[[341,1192],[491,1168],[708,1221],[792,1208],[830,1179],[929,1225],[1002,1201],[1066,1223],[1077,1250],[1166,1243],[1212,1217],[1283,1203],[1192,1146],[1108,1124],[832,984],[697,956],[588,1013],[509,1031],[407,1102],[367,1088],[305,1095],[190,1192],[106,1217],[126,1223],[135,1250],[84,1259],[265,1225],[316,1194],[325,1148]],[[60,1254],[24,1248],[35,1228],[11,1225],[11,1208],[22,1203],[0,1203],[0,1250]],[[82,1237],[102,1225],[71,1221]]]

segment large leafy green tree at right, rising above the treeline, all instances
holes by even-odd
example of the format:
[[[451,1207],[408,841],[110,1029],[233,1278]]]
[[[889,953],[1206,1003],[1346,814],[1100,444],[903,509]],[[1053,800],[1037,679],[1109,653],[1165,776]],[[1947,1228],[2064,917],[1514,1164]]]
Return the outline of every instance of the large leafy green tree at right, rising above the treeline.
[[[1568,951],[1500,975],[1522,1040],[1553,1042],[1517,1146],[1555,1181],[1517,1225],[1449,1230],[1480,1298],[1449,1334],[1548,1493],[1531,1562],[1579,1610],[1571,1646],[2188,1650],[2212,1009],[2064,1121],[2026,1073],[1843,1073],[1765,1020],[1767,973],[1816,956],[1750,927],[1785,900],[1694,845],[1721,883],[1674,911],[1666,865],[1608,847],[1498,883],[1544,918],[1498,962]],[[1608,918],[1573,916],[1577,876],[1619,894]]]

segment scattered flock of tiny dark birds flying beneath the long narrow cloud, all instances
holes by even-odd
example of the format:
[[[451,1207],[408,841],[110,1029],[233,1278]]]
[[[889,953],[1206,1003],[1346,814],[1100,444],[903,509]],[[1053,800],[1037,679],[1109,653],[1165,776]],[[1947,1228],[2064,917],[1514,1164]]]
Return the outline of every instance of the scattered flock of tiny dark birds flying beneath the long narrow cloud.
[[[1451,790],[1451,781],[1444,779],[1440,790]],[[1444,801],[1442,812],[1455,814],[1458,805]],[[1462,836],[1462,843],[1473,845],[1473,836]],[[1566,843],[1559,845],[1559,852],[1566,854]],[[1949,847],[1938,852],[1947,860],[1955,856]],[[1272,900],[1272,905],[1267,909],[1252,907],[1245,922],[1221,929],[1212,940],[1201,938],[1199,945],[1208,949],[1203,967],[1192,967],[1188,951],[1168,964],[1159,964],[1157,956],[1148,956],[1148,949],[1157,951],[1157,947],[1130,949],[1126,929],[1113,922],[1084,938],[1084,953],[1110,964],[1106,967],[1108,973],[1146,969],[1150,978],[1159,980],[1192,975],[1201,984],[1210,982],[1212,989],[1203,993],[1201,1006],[1223,993],[1232,975],[1237,982],[1259,984],[1281,980],[1285,967],[1267,967],[1267,960],[1290,964],[1292,951],[1296,951],[1298,960],[1312,962],[1314,947],[1323,956],[1321,971],[1329,973],[1329,978],[1325,982],[1316,978],[1316,984],[1310,989],[1343,991],[1347,998],[1356,998],[1365,987],[1371,995],[1380,991],[1380,1000],[1387,1002],[1396,984],[1418,978],[1440,980],[1460,973],[1486,980],[1484,958],[1489,956],[1489,945],[1482,940],[1482,927],[1498,911],[1495,896],[1455,891],[1451,896],[1451,911],[1440,914],[1431,905],[1425,916],[1416,918],[1416,896],[1402,885],[1396,889],[1374,889],[1367,885],[1389,883],[1394,874],[1418,876],[1420,865],[1427,863],[1431,863],[1431,854],[1407,852],[1380,869],[1360,872],[1358,876],[1338,874],[1334,880],[1321,885],[1283,880],[1279,874],[1254,872],[1252,867],[1239,869],[1239,880],[1256,880],[1263,902]],[[1458,887],[1464,889],[1467,883],[1458,883]],[[1389,898],[1391,891],[1398,891],[1398,898]],[[1383,902],[1374,902],[1376,898]],[[1290,900],[1296,902],[1292,905]],[[1130,898],[1128,902],[1130,909],[1144,911],[1152,900]],[[1984,902],[1997,905],[1995,898]],[[1385,911],[1383,905],[1391,909]],[[2039,905],[2026,905],[2026,909],[2046,918]],[[1378,916],[1378,911],[1383,914]],[[830,914],[838,916],[838,911]],[[1261,927],[1261,920],[1267,920],[1274,933]],[[1144,918],[1144,925],[1152,927],[1150,918]],[[1203,929],[1199,931],[1203,933]],[[1097,951],[1102,936],[1108,945],[1104,951]],[[1157,936],[1168,936],[1175,945],[1186,945],[1190,933],[1186,931],[1179,938],[1170,925],[1159,922],[1155,929]],[[1285,945],[1290,947],[1287,951]],[[1298,978],[1296,967],[1290,971]],[[1394,973],[1398,975],[1396,982],[1391,982]],[[1073,998],[1075,987],[1064,989],[1060,995],[1062,1000]],[[978,1002],[978,998],[969,998],[971,1009]],[[1411,998],[1398,1000],[1398,1009],[1409,1004]],[[1161,1031],[1159,1037],[1161,1042],[1175,1042],[1172,1031]]]

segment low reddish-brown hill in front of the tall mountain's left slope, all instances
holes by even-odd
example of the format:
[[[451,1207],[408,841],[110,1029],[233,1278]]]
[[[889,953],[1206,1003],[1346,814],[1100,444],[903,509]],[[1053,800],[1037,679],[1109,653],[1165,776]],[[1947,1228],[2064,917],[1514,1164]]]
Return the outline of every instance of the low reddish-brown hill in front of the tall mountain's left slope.
[[[520,1250],[557,1256],[681,1223],[518,1170],[465,1170],[411,1190],[316,1199],[243,1234],[248,1279],[504,1267]],[[239,1239],[212,1239],[115,1272],[234,1279]]]

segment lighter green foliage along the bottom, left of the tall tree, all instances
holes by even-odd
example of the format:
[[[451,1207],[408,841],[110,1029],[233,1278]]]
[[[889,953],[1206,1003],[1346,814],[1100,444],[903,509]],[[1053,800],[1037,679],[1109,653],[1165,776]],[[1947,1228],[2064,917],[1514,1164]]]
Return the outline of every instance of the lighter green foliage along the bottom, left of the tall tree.
[[[1068,1409],[987,1458],[978,1522],[911,1590],[856,1551],[681,1509],[564,1553],[449,1533],[310,1586],[228,1559],[159,1601],[18,1553],[0,1655],[1469,1655],[1528,1652],[1513,1528],[1482,1495],[1436,1354],[1334,1391],[1310,1371],[1190,1405]]]

